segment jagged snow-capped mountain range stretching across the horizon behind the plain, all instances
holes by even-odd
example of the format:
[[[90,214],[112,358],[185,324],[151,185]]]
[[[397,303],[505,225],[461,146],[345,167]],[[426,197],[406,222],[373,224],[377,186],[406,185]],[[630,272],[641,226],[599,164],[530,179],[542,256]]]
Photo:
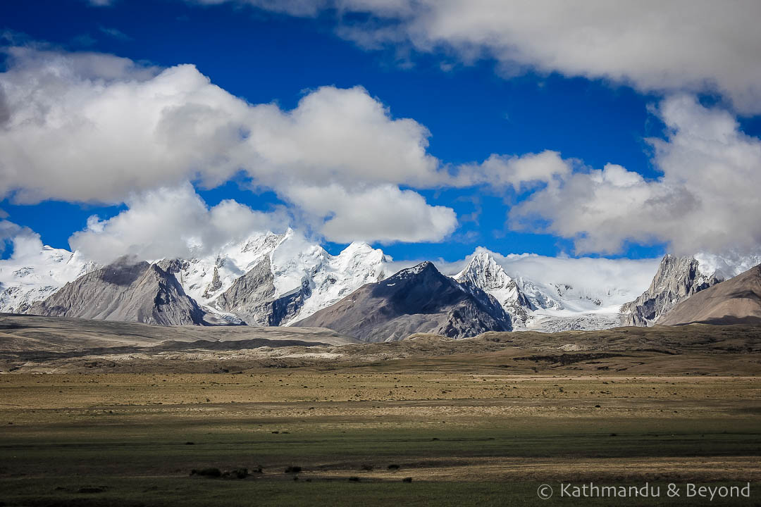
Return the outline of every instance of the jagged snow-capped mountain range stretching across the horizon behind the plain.
[[[479,248],[464,265],[441,271],[431,262],[393,261],[361,242],[330,255],[293,230],[257,233],[212,255],[120,258],[105,266],[78,252],[41,244],[31,250],[0,261],[2,312],[161,325],[309,325],[364,341],[413,332],[466,337],[652,325],[680,301],[761,262],[666,255],[638,295],[632,283],[544,269],[537,256]]]

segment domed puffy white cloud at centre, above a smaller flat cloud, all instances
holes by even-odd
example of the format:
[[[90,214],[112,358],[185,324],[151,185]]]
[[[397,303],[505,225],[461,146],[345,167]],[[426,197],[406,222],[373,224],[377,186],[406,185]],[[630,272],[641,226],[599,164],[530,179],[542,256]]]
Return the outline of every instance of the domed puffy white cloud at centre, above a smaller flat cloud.
[[[273,104],[252,109],[247,147],[262,164],[250,173],[273,186],[284,178],[438,185],[445,175],[426,153],[429,135],[415,120],[391,119],[364,88],[321,87],[289,112]]]

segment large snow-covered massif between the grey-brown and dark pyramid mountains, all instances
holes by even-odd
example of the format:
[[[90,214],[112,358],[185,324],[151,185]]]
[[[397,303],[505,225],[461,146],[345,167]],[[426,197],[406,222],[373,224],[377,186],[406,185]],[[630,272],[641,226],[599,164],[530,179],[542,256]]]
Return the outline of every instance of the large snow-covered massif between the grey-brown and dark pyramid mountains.
[[[330,255],[290,229],[256,234],[217,255],[170,264],[174,268],[168,271],[207,312],[250,325],[288,325],[389,271],[384,253],[366,243],[354,242]]]

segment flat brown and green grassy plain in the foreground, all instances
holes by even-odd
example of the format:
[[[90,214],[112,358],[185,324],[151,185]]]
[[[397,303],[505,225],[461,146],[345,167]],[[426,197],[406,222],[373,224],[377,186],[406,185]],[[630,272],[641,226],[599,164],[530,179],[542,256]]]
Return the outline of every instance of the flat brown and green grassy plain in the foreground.
[[[516,375],[477,364],[444,356],[237,374],[0,375],[0,502],[761,502],[755,375]],[[250,475],[191,474],[209,468]],[[660,498],[559,496],[560,483],[646,481]],[[665,494],[668,483],[747,482],[750,499]],[[545,483],[549,500],[537,496]]]

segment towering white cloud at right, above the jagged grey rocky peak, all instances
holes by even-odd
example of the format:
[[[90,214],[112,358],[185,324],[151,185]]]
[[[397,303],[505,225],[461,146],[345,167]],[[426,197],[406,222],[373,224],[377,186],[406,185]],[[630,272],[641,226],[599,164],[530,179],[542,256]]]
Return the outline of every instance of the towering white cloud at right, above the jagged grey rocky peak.
[[[761,245],[761,140],[726,111],[680,95],[661,103],[667,138],[651,139],[663,176],[622,166],[572,173],[511,209],[511,225],[575,240],[578,252],[667,242],[676,253],[753,251]]]

